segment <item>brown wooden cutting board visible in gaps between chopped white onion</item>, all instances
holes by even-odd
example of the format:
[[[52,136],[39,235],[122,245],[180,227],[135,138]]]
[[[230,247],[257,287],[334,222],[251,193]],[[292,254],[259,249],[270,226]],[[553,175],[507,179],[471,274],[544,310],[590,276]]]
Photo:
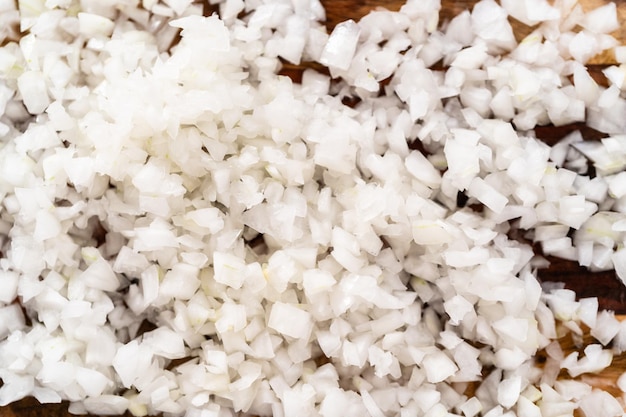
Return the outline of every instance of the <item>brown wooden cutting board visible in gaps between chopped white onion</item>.
[[[419,0],[417,0],[419,1]],[[476,0],[441,0],[442,11],[441,21],[450,19],[476,3]],[[206,3],[206,10],[213,10],[214,7]],[[358,20],[370,10],[377,7],[384,7],[390,10],[398,10],[404,3],[402,0],[322,0],[326,7],[327,26],[329,30],[339,22],[346,19]],[[606,0],[579,0],[579,3],[589,10],[591,8],[606,4]],[[626,44],[626,0],[617,0],[615,2],[618,7],[618,14],[621,28],[615,32],[615,36]],[[530,33],[531,28],[512,20],[516,36],[522,39],[526,34]],[[593,59],[590,68],[594,77],[602,80],[602,68],[614,63],[614,57],[610,54],[603,54]],[[285,73],[297,74],[301,68],[287,67]],[[563,126],[563,127],[543,127],[537,129],[537,136],[545,140],[547,143],[554,143],[573,129],[582,128],[582,126]],[[586,137],[597,139],[600,137],[595,132],[587,131]],[[616,278],[613,271],[590,273],[585,268],[579,267],[577,264],[549,257],[551,265],[548,269],[539,272],[540,279],[543,281],[564,282],[567,288],[573,289],[580,297],[598,297],[600,307],[610,309],[623,319],[626,317],[626,287]],[[591,339],[589,339],[591,340]],[[571,338],[566,337],[561,340],[564,349],[567,352],[574,350],[582,350],[580,346],[576,346]],[[611,368],[604,372],[593,375],[584,376],[583,379],[598,388],[605,389],[617,397],[621,397],[615,381],[622,372],[626,371],[626,355],[621,355],[614,359]],[[130,416],[129,413],[126,414]],[[0,417],[69,417],[71,414],[67,412],[67,404],[47,404],[40,405],[32,398],[27,398],[7,407],[0,407]]]

